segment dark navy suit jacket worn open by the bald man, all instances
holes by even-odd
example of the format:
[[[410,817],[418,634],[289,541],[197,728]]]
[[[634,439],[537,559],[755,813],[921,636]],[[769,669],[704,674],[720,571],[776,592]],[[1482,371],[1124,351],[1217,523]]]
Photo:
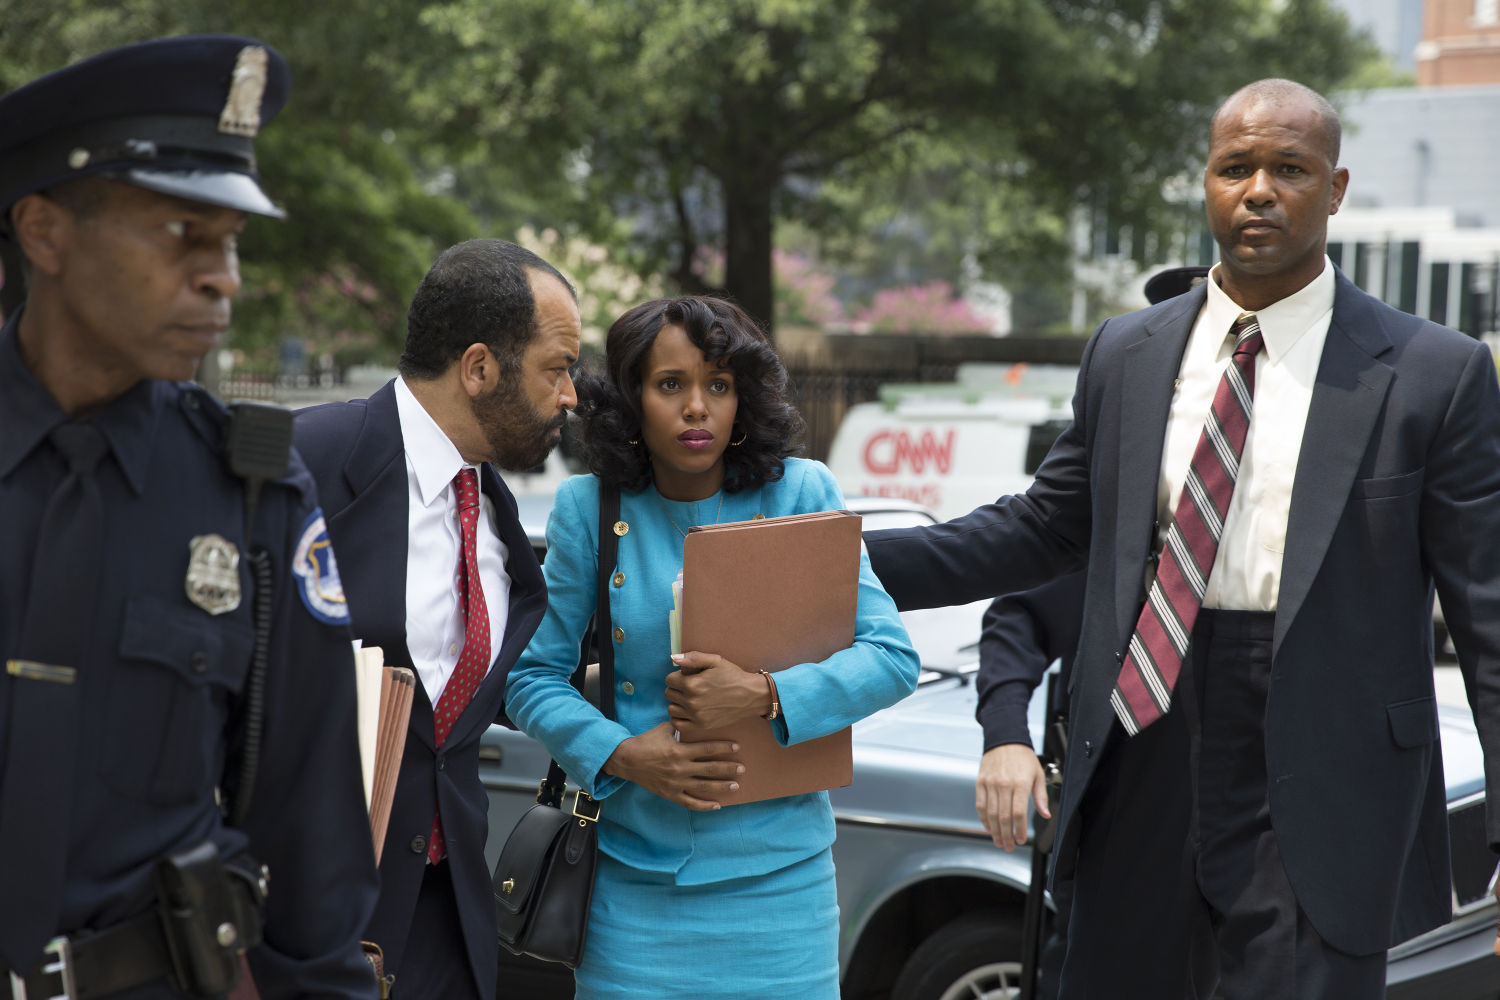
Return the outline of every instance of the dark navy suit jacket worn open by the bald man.
[[[1173,378],[1204,295],[1194,289],[1095,331],[1074,423],[1026,493],[944,525],[866,537],[902,607],[966,603],[1088,567],[1059,877],[1114,723],[1108,694],[1144,601]],[[1406,933],[1449,918],[1434,583],[1485,750],[1486,829],[1497,846],[1494,361],[1484,345],[1338,274],[1287,522],[1266,765],[1270,820],[1298,901],[1328,942],[1353,954],[1390,945],[1402,877]]]

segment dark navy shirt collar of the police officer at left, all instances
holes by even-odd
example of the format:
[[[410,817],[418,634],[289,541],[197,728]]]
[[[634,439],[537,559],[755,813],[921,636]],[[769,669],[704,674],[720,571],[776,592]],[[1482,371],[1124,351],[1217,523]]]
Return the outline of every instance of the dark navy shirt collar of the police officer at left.
[[[6,478],[68,414],[21,360],[16,327],[21,310],[0,330],[0,478]],[[130,489],[146,490],[156,420],[172,387],[141,379],[88,418],[104,432]]]

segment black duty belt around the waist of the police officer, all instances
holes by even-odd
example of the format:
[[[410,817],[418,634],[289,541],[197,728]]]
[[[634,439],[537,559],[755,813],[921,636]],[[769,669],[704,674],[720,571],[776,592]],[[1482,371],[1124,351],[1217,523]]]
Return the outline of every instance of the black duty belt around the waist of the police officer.
[[[234,948],[240,928],[260,927],[260,901],[254,876],[236,871],[236,919],[213,928],[225,948]],[[154,981],[174,981],[171,948],[164,930],[160,904],[104,931],[76,937],[54,937],[32,972],[18,975],[0,958],[0,1000],[96,1000]],[[176,985],[176,984],[174,984]]]

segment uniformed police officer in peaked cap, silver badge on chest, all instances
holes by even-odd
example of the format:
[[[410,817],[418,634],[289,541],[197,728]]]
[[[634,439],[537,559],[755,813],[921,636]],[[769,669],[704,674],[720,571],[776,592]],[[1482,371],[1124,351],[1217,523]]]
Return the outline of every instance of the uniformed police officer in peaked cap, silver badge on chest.
[[[267,999],[375,993],[322,514],[186,381],[246,213],[282,216],[252,141],[288,85],[270,46],[189,36],[0,97],[28,291],[0,330],[0,994],[218,996],[243,949]]]

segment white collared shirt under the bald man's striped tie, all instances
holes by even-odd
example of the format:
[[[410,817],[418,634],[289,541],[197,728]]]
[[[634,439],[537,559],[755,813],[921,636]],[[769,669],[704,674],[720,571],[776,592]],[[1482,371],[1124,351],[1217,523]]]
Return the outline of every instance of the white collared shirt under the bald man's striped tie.
[[[1244,312],[1220,288],[1220,267],[1215,264],[1209,273],[1208,300],[1192,325],[1172,396],[1156,486],[1158,547],[1172,525],[1192,450],[1233,354],[1228,331]],[[1317,277],[1281,301],[1257,310],[1256,318],[1266,348],[1256,360],[1250,433],[1203,607],[1274,612],[1281,592],[1292,481],[1302,453],[1312,382],[1334,318],[1334,265],[1324,258]]]

